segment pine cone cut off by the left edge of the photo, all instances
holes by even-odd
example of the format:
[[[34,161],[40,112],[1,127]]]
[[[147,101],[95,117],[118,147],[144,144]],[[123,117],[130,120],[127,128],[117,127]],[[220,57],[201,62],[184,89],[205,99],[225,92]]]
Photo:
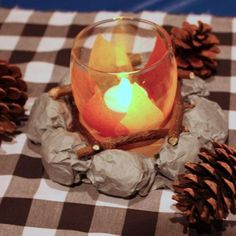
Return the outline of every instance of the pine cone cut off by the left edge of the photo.
[[[24,115],[24,105],[28,98],[27,86],[21,79],[20,68],[0,60],[0,143],[11,140]]]

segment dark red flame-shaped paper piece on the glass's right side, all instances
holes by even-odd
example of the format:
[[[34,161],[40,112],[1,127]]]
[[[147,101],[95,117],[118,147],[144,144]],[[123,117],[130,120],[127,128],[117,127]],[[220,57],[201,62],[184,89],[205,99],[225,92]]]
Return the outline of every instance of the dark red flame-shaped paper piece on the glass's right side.
[[[170,40],[168,35],[166,35],[166,38]],[[145,67],[159,61],[167,50],[164,39],[160,36],[157,37],[155,47]],[[156,69],[140,75],[139,84],[145,88],[149,97],[156,102],[166,119],[171,112],[177,88],[175,59],[170,60],[169,56],[165,57]]]

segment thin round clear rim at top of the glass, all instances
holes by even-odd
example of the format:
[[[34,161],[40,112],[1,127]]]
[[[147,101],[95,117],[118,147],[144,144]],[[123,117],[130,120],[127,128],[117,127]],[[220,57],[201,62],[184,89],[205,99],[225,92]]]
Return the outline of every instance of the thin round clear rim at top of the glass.
[[[83,63],[81,60],[79,60],[77,58],[77,56],[74,55],[73,53],[73,48],[75,46],[75,41],[77,38],[81,37],[82,35],[86,34],[89,30],[91,30],[92,28],[95,28],[99,25],[102,25],[102,24],[106,24],[106,23],[110,23],[110,22],[115,22],[115,21],[119,21],[119,20],[124,20],[124,21],[136,21],[136,22],[142,22],[142,23],[145,23],[147,25],[150,25],[152,26],[152,28],[154,30],[156,30],[158,33],[161,32],[164,39],[165,39],[165,43],[166,43],[166,46],[167,46],[167,50],[166,52],[164,53],[164,55],[162,55],[162,57],[152,63],[150,66],[148,67],[143,67],[141,69],[137,69],[137,70],[132,70],[132,71],[120,71],[120,72],[104,72],[104,71],[100,71],[100,70],[96,70],[90,66],[88,66],[87,64]],[[161,64],[162,61],[171,53],[173,53],[173,48],[172,48],[172,45],[170,43],[169,40],[167,40],[167,37],[166,37],[166,34],[168,34],[166,32],[166,30],[159,26],[158,24],[156,24],[155,22],[152,22],[152,21],[149,21],[149,20],[146,20],[146,19],[142,19],[142,18],[139,18],[139,17],[129,17],[129,16],[118,16],[118,17],[113,17],[113,18],[108,18],[108,19],[105,19],[105,20],[100,20],[100,21],[97,21],[97,22],[94,22],[88,26],[86,26],[84,29],[82,29],[75,37],[74,39],[74,42],[73,42],[73,46],[72,46],[72,50],[71,50],[71,57],[75,60],[75,62],[77,64],[79,64],[80,66],[82,66],[83,68],[85,68],[86,70],[89,70],[91,72],[94,72],[94,73],[98,73],[98,74],[106,74],[106,75],[111,75],[111,76],[117,76],[119,74],[125,74],[125,75],[134,75],[134,74],[143,74],[143,73],[146,73],[152,69],[154,69],[156,66],[158,66],[158,64]]]

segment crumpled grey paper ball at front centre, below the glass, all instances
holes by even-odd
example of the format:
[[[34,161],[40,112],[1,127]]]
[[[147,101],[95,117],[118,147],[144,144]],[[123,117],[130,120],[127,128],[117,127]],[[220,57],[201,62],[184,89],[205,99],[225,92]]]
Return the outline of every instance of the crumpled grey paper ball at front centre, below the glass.
[[[94,155],[87,178],[100,192],[129,197],[148,194],[156,176],[153,158],[118,149]]]

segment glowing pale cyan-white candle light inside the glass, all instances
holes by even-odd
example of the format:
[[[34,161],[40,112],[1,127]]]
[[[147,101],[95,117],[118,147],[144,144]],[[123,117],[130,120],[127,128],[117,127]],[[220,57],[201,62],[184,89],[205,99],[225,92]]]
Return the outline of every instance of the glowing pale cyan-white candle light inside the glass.
[[[105,104],[115,112],[126,113],[132,100],[132,86],[127,78],[120,78],[120,83],[109,88],[104,94]]]

